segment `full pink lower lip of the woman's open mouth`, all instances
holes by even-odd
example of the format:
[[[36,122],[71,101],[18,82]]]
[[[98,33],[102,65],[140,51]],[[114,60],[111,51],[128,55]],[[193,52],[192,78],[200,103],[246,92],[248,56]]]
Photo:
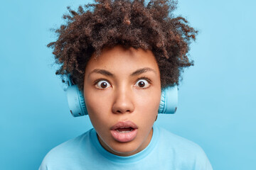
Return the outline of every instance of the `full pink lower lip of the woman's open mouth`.
[[[133,129],[131,132],[117,132],[117,130],[110,130],[114,140],[118,142],[130,142],[137,136],[138,129]]]

